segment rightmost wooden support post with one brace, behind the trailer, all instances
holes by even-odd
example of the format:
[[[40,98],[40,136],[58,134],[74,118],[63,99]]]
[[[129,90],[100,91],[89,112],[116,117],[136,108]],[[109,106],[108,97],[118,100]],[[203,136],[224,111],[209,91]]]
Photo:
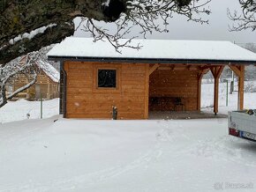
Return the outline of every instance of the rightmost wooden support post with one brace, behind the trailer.
[[[238,77],[238,98],[237,98],[237,110],[244,109],[244,88],[245,88],[245,65],[230,65],[230,69],[233,70]]]

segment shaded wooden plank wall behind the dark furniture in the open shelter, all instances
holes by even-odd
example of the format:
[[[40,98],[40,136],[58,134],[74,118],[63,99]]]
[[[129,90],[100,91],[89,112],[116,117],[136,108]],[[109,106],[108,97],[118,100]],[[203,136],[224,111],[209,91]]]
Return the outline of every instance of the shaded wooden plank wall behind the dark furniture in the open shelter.
[[[178,70],[171,70],[172,68],[175,69],[176,66],[164,66],[169,68],[169,70],[155,70],[150,76],[149,96],[183,97],[185,100],[185,110],[197,110],[199,94],[198,73],[200,68],[199,70],[189,70],[187,66],[184,66]],[[167,107],[169,110],[173,110],[173,101],[171,102],[169,107]],[[150,103],[150,105],[152,104]],[[153,110],[152,107],[150,109]],[[158,110],[161,110],[161,107]],[[178,108],[178,110],[181,110],[181,108]]]

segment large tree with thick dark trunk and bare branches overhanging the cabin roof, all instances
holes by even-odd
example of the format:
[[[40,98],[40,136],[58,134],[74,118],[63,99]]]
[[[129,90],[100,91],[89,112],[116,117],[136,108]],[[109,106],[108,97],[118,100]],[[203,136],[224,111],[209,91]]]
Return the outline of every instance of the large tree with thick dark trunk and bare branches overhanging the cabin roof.
[[[74,32],[73,18],[86,21],[85,30],[95,40],[103,37],[117,49],[123,45],[118,39],[130,33],[131,26],[139,26],[141,33],[166,31],[159,27],[159,19],[168,25],[167,18],[173,13],[182,14],[188,20],[205,9],[210,0],[0,0],[0,64],[8,63],[19,55],[60,42]],[[85,20],[86,18],[86,20]],[[94,20],[116,22],[117,31],[109,33]],[[130,23],[129,23],[130,22]],[[137,47],[139,48],[139,47]]]

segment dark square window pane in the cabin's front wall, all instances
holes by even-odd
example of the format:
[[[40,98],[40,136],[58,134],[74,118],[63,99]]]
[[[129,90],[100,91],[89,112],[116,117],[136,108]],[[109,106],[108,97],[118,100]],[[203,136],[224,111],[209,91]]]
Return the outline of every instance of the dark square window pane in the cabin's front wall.
[[[98,87],[116,87],[117,70],[98,70]]]

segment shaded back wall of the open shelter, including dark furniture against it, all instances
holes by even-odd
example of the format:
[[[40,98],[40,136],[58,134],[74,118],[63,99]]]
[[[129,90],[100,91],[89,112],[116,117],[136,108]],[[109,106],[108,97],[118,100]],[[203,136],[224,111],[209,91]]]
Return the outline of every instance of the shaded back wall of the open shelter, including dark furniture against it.
[[[161,70],[160,67],[154,70],[149,78],[150,110],[198,110],[200,92],[198,74],[198,70],[190,70],[188,68]],[[176,98],[182,98],[183,108],[181,106],[175,107]]]

